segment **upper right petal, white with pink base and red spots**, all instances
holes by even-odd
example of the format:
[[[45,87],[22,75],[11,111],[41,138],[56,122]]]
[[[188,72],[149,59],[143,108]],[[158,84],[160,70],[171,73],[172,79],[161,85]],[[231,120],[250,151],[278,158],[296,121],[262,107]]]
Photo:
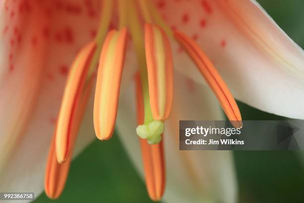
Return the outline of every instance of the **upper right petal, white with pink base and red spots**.
[[[304,118],[304,52],[256,1],[171,0],[159,10],[170,26],[197,40],[236,99]],[[174,50],[176,67],[203,81],[186,54]]]

